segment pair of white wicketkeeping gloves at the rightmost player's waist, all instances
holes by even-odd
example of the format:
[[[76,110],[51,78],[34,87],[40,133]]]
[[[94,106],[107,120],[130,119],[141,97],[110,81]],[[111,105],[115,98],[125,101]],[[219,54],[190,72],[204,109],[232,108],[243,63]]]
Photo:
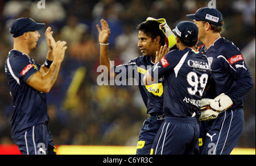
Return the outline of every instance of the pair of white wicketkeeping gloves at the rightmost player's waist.
[[[200,121],[209,121],[210,119],[217,118],[218,114],[232,107],[233,102],[226,94],[221,93],[214,99],[203,98],[200,106]]]

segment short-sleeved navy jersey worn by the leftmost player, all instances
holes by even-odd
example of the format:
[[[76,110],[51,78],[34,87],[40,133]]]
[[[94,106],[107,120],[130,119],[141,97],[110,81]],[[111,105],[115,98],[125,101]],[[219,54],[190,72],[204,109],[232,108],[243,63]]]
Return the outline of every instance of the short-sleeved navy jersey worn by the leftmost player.
[[[39,69],[39,64],[15,49],[12,49],[7,56],[5,72],[13,99],[11,119],[13,138],[22,134],[22,131],[28,127],[49,121],[46,94],[26,84],[27,79]]]

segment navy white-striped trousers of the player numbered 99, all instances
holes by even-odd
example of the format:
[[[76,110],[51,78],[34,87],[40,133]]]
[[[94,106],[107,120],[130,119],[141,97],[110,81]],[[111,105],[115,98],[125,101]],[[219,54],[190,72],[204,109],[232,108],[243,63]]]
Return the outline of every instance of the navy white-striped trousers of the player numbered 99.
[[[154,155],[192,155],[198,147],[199,124],[192,117],[166,116],[159,128],[153,148]]]

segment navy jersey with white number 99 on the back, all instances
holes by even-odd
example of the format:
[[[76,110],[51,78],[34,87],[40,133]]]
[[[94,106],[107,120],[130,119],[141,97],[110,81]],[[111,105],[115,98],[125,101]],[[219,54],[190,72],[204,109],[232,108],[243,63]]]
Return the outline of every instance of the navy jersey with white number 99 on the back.
[[[192,48],[168,52],[149,70],[164,76],[163,114],[175,117],[200,115],[200,103],[209,79],[207,57]]]

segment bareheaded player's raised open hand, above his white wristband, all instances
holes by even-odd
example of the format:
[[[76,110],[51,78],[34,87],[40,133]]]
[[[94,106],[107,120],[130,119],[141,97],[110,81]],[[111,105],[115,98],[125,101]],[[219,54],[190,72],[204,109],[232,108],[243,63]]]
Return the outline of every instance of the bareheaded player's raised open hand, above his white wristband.
[[[108,22],[106,22],[104,19],[101,19],[101,28],[98,24],[96,25],[96,27],[99,33],[98,42],[102,44],[109,43],[110,28]]]

